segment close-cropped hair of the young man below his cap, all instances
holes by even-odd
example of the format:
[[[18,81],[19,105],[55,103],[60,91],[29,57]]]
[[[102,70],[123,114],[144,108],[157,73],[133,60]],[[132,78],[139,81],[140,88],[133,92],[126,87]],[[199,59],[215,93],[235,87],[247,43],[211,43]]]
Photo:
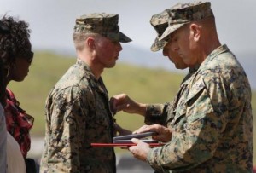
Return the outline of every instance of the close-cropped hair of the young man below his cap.
[[[92,32],[73,32],[73,43],[76,50],[83,50],[85,40],[88,37],[95,37],[96,39],[102,37],[101,34]]]

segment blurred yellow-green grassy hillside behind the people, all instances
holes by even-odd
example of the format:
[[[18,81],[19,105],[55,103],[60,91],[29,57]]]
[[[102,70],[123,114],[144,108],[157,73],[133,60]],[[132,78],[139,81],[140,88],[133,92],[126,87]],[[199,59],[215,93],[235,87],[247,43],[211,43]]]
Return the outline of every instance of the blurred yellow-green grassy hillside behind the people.
[[[9,84],[9,88],[14,91],[16,98],[20,101],[20,107],[35,118],[32,136],[44,136],[45,99],[55,82],[75,61],[75,57],[37,52],[25,81]],[[172,66],[171,62],[170,66]],[[181,74],[162,69],[148,69],[119,63],[114,68],[105,70],[102,77],[110,96],[126,93],[137,101],[148,103],[172,101],[183,79]],[[255,92],[253,92],[252,103],[253,115],[255,115]],[[135,114],[119,112],[116,118],[118,123],[126,129],[136,130],[143,125],[143,118]],[[254,124],[256,124],[255,119]]]

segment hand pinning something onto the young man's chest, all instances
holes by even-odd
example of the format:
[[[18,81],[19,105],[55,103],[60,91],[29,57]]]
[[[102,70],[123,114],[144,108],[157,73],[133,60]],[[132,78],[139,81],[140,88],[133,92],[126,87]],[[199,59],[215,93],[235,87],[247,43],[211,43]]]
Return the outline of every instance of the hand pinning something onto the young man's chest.
[[[125,94],[114,95],[110,98],[109,104],[113,114],[119,111],[124,111],[144,115],[146,112],[145,104],[137,103],[136,101],[131,100],[131,98]]]

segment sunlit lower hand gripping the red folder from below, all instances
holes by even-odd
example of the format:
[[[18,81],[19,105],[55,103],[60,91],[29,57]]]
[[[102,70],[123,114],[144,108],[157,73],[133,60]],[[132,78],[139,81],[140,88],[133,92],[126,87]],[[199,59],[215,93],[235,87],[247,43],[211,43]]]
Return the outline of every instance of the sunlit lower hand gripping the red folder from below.
[[[147,143],[140,141],[136,138],[132,138],[131,141],[133,143],[136,143],[137,146],[131,146],[129,147],[129,151],[132,153],[132,155],[140,160],[146,161],[147,160],[147,155],[150,150],[150,147]]]

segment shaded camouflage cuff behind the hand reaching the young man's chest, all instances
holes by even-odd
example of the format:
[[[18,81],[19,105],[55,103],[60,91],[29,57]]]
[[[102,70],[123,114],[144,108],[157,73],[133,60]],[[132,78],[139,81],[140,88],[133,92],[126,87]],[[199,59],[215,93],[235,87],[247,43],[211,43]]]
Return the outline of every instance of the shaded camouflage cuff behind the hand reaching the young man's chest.
[[[166,125],[166,105],[152,104],[146,106],[145,124]]]

